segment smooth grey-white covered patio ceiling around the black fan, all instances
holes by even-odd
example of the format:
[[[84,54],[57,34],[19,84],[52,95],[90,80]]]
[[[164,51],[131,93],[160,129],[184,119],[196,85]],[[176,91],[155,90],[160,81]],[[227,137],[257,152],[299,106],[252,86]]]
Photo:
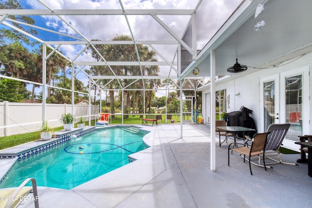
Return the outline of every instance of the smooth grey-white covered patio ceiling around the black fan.
[[[256,32],[254,13],[259,3],[264,4],[262,13],[266,24]],[[312,52],[310,8],[312,1],[309,0],[245,1],[181,77],[189,76],[194,67],[200,69],[199,76],[210,76],[210,52],[213,50],[215,75],[233,77],[261,68],[274,70],[274,66],[278,67],[281,62]],[[235,74],[227,72],[227,68],[234,65],[236,57],[238,63],[248,66],[247,71]]]

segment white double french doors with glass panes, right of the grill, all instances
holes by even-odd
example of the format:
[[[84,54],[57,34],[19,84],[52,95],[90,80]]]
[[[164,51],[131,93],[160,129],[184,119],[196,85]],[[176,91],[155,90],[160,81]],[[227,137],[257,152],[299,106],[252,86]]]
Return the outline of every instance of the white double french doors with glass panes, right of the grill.
[[[309,134],[309,66],[260,79],[261,128],[271,123],[290,123],[283,145],[292,150],[298,135]]]

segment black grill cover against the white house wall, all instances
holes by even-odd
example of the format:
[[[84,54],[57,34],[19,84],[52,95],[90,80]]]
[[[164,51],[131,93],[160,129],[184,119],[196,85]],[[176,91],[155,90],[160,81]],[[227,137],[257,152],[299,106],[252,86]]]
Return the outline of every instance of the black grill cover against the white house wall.
[[[227,113],[227,125],[228,126],[242,126],[246,128],[255,129],[254,119],[250,116],[252,110],[245,108],[244,106],[241,107],[240,111],[234,111],[231,113]],[[249,135],[251,137],[254,136],[256,131],[245,132],[245,135]],[[237,133],[239,137],[243,137],[243,133]]]

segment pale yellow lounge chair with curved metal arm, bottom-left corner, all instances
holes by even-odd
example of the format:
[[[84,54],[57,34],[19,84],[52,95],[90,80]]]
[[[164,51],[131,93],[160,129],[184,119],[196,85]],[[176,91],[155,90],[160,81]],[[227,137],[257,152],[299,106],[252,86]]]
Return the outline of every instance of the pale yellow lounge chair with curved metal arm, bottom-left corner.
[[[32,187],[25,187],[29,181],[32,182]],[[0,196],[2,197],[0,200],[0,208],[18,207],[29,193],[33,193],[32,200],[35,203],[35,208],[39,208],[39,197],[35,178],[27,178],[16,189],[0,190]]]

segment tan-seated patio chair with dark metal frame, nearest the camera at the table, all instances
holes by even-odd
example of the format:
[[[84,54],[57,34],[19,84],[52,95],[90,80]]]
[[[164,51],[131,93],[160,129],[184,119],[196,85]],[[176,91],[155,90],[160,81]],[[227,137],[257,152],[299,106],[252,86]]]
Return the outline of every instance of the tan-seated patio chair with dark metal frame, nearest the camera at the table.
[[[264,163],[264,169],[267,170],[267,167],[265,165],[264,160],[264,153],[265,153],[265,146],[267,143],[268,135],[270,132],[264,132],[264,133],[256,133],[254,134],[254,137],[252,139],[251,147],[247,147],[246,144],[244,146],[238,147],[239,145],[243,145],[240,143],[231,143],[228,148],[228,166],[230,166],[230,150],[232,150],[231,154],[233,154],[233,151],[239,152],[244,157],[244,162],[246,159],[246,155],[248,155],[248,161],[249,161],[249,168],[250,173],[253,175],[252,167],[251,167],[251,157],[252,156],[258,156],[259,161],[261,159],[260,155],[263,155],[263,163]],[[231,146],[233,145],[233,148]],[[254,163],[253,163],[254,164]],[[256,164],[255,164],[256,165]]]

